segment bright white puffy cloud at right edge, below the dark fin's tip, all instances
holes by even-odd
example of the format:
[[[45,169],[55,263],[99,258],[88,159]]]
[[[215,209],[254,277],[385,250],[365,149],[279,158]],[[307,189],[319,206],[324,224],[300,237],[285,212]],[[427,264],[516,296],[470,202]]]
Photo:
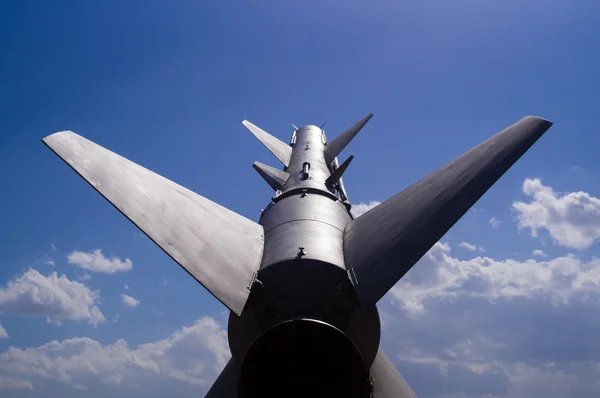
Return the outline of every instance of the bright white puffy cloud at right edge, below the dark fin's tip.
[[[600,239],[600,199],[581,191],[554,192],[539,178],[526,179],[523,192],[531,201],[514,202],[512,207],[519,228],[529,228],[531,236],[545,229],[560,246],[580,250]]]

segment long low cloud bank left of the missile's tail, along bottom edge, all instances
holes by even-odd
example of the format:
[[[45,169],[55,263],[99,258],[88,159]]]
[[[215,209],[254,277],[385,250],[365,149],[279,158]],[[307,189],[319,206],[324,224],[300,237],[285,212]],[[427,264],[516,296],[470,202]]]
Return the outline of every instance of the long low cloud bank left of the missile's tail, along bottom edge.
[[[190,386],[189,392],[206,392],[229,357],[226,329],[205,317],[163,340],[137,347],[124,340],[102,345],[88,337],[25,349],[10,347],[0,354],[0,374],[14,380],[16,387],[42,394],[47,381],[78,390],[91,390],[100,383],[131,394],[151,392],[152,383],[170,380]]]

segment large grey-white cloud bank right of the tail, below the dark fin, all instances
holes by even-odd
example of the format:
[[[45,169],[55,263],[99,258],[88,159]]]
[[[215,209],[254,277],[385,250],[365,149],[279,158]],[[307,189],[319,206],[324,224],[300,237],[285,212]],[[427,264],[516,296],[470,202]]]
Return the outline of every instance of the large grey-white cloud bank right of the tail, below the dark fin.
[[[599,260],[451,253],[438,242],[379,306],[382,347],[419,397],[600,395]]]

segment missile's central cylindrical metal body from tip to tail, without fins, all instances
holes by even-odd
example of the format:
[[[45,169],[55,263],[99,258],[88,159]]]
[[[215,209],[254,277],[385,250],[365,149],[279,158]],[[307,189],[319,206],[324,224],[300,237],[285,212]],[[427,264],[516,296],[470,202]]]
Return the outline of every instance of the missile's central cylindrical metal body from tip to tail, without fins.
[[[333,335],[354,346],[349,349],[360,354],[366,372],[377,354],[379,314],[376,306],[359,307],[351,293],[343,233],[353,217],[339,186],[326,184],[335,168],[325,163],[326,145],[325,133],[317,126],[294,132],[285,169],[290,177],[261,214],[265,245],[257,281],[242,315],[232,313],[229,318],[232,356],[242,367],[258,366],[247,363],[251,346],[261,344],[259,336],[273,334],[268,331],[290,321],[312,322],[316,334],[332,328]],[[319,345],[321,351],[328,349],[326,341]],[[242,383],[243,379],[244,369]]]

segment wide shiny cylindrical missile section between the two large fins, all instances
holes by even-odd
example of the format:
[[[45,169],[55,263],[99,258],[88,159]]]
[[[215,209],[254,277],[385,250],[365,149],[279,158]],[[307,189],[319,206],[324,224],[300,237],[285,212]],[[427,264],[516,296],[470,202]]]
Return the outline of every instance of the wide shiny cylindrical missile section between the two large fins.
[[[351,217],[328,196],[301,193],[263,213],[265,247],[259,279],[287,302],[330,295],[346,277],[343,231]]]

